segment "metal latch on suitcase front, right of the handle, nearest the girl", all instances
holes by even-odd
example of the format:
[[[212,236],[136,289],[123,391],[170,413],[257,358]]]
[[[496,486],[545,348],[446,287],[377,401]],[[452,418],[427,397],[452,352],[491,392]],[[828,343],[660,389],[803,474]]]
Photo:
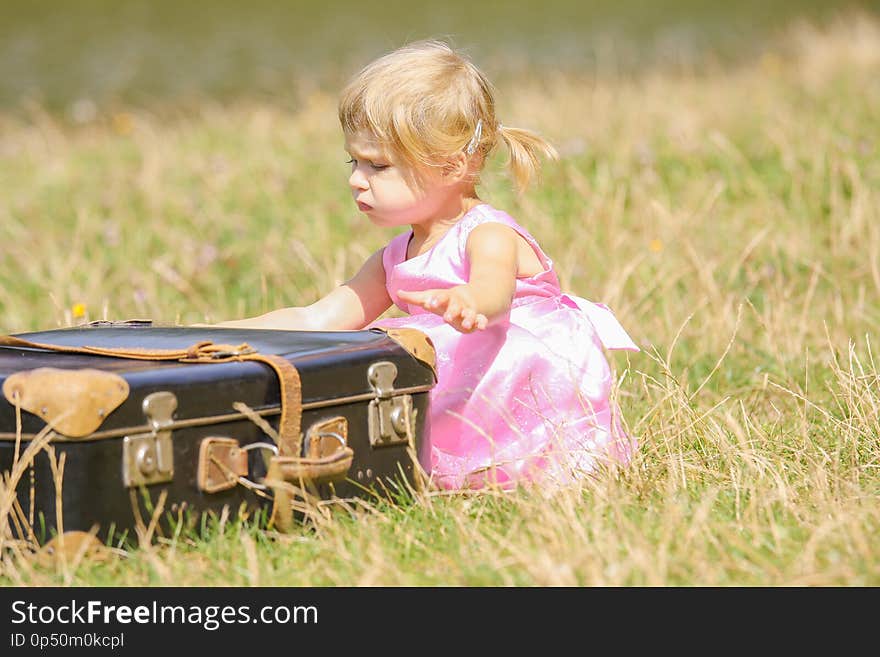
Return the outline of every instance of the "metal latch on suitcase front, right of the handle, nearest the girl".
[[[397,366],[389,361],[373,363],[367,380],[376,393],[369,407],[369,434],[372,447],[412,444],[415,413],[411,395],[395,395]]]

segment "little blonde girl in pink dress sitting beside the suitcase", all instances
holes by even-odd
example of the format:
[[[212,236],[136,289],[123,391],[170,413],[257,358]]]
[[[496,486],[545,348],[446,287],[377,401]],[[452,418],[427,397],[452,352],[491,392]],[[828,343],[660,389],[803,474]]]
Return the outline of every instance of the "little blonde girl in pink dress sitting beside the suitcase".
[[[439,42],[369,64],[343,90],[339,119],[358,209],[408,230],[312,305],[220,325],[426,333],[437,350],[431,474],[443,488],[627,463],[634,441],[609,400],[602,349],[638,347],[607,307],[563,294],[535,239],[475,190],[498,142],[520,187],[553,147],[503,126],[483,74]],[[392,303],[409,316],[376,321]]]

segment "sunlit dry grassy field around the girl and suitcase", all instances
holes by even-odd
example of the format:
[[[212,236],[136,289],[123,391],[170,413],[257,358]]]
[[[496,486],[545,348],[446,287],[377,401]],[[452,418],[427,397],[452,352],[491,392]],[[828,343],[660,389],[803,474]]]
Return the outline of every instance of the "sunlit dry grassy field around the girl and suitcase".
[[[736,64],[506,76],[504,123],[562,158],[521,197],[493,161],[482,194],[643,347],[609,356],[634,464],[100,560],[0,535],[0,582],[880,584],[880,20],[793,23]],[[0,329],[310,303],[392,237],[352,207],[331,93],[210,98],[0,114]]]

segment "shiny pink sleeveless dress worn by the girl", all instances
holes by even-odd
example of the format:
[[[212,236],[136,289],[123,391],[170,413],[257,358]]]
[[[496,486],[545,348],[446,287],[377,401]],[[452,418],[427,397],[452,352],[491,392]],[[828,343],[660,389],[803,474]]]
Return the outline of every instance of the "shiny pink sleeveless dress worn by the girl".
[[[467,283],[467,238],[486,222],[513,228],[544,265],[536,276],[517,279],[507,318],[463,334],[400,300],[398,290]],[[373,325],[420,329],[437,350],[429,429],[434,482],[447,489],[564,483],[602,461],[628,463],[635,440],[609,400],[612,374],[603,348],[639,349],[607,306],[562,294],[535,239],[489,205],[472,208],[429,251],[407,260],[411,235],[391,240],[382,257],[388,294],[410,315]]]

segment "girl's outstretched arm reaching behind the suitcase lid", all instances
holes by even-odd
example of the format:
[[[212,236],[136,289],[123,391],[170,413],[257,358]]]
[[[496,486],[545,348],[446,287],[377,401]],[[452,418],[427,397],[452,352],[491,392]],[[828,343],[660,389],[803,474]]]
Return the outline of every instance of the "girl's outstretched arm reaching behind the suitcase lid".
[[[383,250],[379,249],[367,258],[354,277],[309,306],[279,308],[257,317],[213,326],[299,331],[361,329],[391,306],[385,289]]]

